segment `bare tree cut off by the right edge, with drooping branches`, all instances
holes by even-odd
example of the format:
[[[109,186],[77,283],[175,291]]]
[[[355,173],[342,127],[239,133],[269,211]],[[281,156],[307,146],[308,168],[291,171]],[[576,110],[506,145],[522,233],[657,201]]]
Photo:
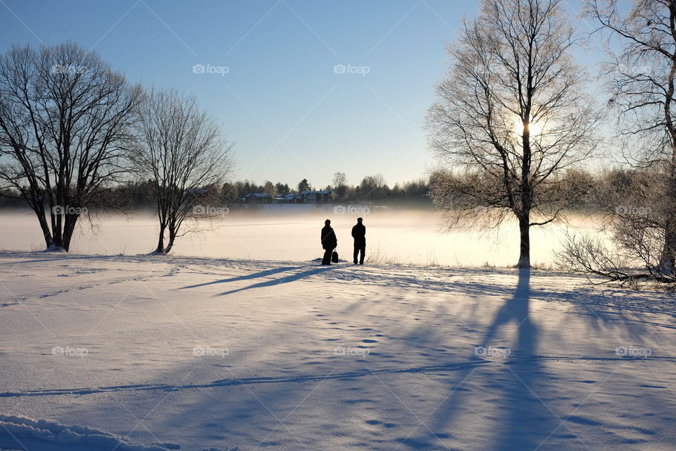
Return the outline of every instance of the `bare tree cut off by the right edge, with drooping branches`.
[[[610,32],[611,44],[621,44],[618,52],[607,46],[610,61],[605,75],[613,95],[610,103],[619,113],[620,144],[629,151],[627,163],[660,169],[652,173],[651,189],[644,190],[643,197],[632,196],[636,206],[651,211],[649,217],[617,219],[622,228],[634,226],[645,236],[663,237],[655,268],[672,275],[676,269],[676,2],[634,0],[625,14],[616,0],[586,3],[587,14]]]

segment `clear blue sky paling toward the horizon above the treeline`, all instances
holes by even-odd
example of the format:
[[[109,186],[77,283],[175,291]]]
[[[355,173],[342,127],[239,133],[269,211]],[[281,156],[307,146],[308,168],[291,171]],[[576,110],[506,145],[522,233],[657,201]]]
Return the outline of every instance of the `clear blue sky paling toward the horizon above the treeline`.
[[[444,43],[477,6],[1,0],[0,37],[3,51],[73,39],[130,80],[194,92],[237,142],[235,178],[323,187],[342,171],[349,183],[382,173],[394,185],[434,163],[423,117],[446,70]],[[194,73],[195,65],[221,73]]]

